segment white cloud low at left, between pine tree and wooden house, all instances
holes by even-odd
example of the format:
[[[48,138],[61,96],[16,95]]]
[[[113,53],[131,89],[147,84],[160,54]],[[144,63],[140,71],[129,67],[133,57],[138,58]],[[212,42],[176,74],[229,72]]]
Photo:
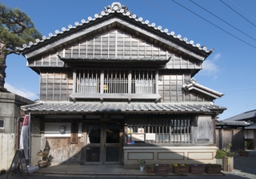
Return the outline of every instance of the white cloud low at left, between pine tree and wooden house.
[[[27,99],[30,99],[30,100],[35,100],[35,99],[38,99],[38,95],[33,93],[33,92],[30,92],[26,89],[18,89],[14,86],[11,86],[10,84],[8,83],[5,83],[5,88],[10,91],[11,93],[16,93],[18,94],[19,96],[22,96],[22,97],[26,97]]]

